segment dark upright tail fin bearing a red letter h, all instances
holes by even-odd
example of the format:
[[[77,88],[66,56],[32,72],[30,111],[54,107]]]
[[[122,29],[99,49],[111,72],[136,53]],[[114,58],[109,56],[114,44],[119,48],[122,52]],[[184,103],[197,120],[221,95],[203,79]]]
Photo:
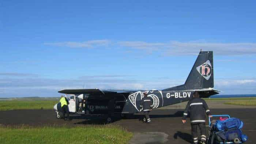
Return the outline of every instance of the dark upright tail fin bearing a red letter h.
[[[184,84],[186,89],[213,88],[213,52],[200,51]]]

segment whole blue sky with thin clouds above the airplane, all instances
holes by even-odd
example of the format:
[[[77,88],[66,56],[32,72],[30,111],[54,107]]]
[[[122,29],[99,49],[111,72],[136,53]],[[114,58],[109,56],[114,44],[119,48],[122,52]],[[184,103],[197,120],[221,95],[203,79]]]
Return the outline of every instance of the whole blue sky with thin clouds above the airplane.
[[[0,0],[0,97],[177,86],[200,49],[222,94],[256,94],[255,5]]]

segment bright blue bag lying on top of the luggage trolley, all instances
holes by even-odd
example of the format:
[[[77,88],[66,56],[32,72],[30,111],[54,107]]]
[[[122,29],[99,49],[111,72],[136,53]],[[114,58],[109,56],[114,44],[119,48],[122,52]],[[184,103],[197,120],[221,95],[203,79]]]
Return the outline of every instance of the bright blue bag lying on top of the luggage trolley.
[[[238,118],[229,118],[225,121],[216,121],[215,129],[218,131],[225,131],[229,129],[242,129],[244,123]]]

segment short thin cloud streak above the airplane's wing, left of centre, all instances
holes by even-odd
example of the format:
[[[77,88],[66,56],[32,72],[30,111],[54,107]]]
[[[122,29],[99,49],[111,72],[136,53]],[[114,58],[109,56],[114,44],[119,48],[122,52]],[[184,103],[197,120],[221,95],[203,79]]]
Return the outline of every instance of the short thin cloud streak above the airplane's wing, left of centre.
[[[45,45],[64,46],[70,48],[95,48],[97,46],[108,46],[110,41],[107,39],[85,41],[85,42],[48,42]]]

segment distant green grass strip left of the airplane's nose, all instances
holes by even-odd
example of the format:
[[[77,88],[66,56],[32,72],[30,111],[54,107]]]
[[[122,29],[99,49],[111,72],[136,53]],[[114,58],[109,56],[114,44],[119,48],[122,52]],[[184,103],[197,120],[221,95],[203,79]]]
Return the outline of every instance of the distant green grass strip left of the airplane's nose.
[[[53,109],[53,106],[58,101],[24,101],[24,100],[11,100],[0,101],[0,110],[30,110],[30,109]]]

